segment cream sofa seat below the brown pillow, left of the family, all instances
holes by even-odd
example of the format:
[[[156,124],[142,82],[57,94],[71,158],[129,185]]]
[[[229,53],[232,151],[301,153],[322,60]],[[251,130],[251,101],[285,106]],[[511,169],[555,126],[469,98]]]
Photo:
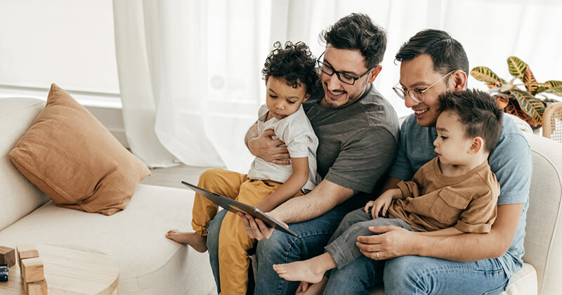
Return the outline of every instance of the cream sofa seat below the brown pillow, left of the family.
[[[193,199],[189,190],[141,184],[127,209],[112,216],[47,202],[1,230],[0,241],[8,247],[67,244],[101,251],[119,264],[122,295],[216,294],[208,254],[164,236],[173,228],[192,230]]]

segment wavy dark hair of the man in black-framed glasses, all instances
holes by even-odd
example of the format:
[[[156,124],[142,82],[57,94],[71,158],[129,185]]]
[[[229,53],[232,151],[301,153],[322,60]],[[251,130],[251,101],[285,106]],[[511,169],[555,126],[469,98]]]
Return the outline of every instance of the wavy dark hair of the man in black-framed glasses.
[[[358,50],[371,69],[382,62],[386,50],[386,32],[368,15],[351,13],[320,33],[320,40],[338,49]]]

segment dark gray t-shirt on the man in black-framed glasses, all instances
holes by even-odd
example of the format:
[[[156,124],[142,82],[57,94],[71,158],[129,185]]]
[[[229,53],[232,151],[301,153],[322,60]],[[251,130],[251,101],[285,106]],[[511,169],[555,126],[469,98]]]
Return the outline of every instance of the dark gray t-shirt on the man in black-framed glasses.
[[[345,188],[372,192],[396,155],[399,126],[394,108],[371,84],[346,107],[322,107],[320,100],[303,103],[319,140],[318,174]]]

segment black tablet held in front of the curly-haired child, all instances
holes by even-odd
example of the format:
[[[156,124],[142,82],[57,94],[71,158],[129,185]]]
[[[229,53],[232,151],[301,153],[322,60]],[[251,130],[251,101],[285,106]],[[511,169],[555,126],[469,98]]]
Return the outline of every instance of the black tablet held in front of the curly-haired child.
[[[276,230],[281,230],[282,232],[285,232],[289,235],[294,235],[295,237],[299,237],[299,235],[297,235],[296,232],[292,231],[290,228],[286,228],[285,225],[282,225],[281,223],[279,223],[279,221],[270,218],[269,216],[264,214],[260,209],[257,209],[254,206],[240,203],[234,199],[230,199],[229,197],[218,195],[214,192],[210,192],[209,190],[205,190],[204,188],[200,188],[197,185],[186,183],[185,181],[182,181],[181,183],[183,183],[183,185],[187,186],[191,190],[194,190],[198,194],[202,195],[203,197],[206,197],[207,199],[211,200],[211,202],[214,202],[218,206],[227,209],[228,211],[234,213],[241,211],[245,214],[254,216],[254,218],[258,218],[259,220],[263,221],[263,223],[266,223],[266,225],[268,225],[270,228],[275,228]]]

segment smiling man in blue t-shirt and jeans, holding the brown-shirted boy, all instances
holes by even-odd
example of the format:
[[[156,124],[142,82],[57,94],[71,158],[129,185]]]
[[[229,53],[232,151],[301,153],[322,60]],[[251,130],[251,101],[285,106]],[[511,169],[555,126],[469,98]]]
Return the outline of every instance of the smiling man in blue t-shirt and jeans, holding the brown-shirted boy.
[[[411,114],[400,128],[398,155],[385,189],[410,180],[420,166],[436,157],[433,140],[438,96],[466,88],[469,62],[450,34],[426,29],[396,54],[400,81],[394,88]],[[523,238],[532,172],[527,140],[504,116],[497,147],[488,158],[501,193],[497,219],[487,234],[427,236],[394,226],[370,228],[358,237],[361,258],[333,270],[327,294],[361,294],[384,280],[385,294],[499,294],[523,261]],[[374,260],[386,260],[384,274]]]

